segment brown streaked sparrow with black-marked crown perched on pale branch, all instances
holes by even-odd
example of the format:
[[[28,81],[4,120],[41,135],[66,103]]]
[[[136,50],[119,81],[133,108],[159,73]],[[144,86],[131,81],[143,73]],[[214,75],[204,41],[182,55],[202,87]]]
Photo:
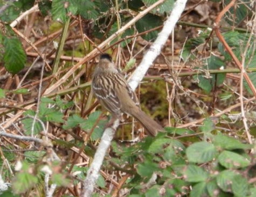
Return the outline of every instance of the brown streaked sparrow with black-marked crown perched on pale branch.
[[[112,114],[113,119],[120,119],[122,113],[132,115],[150,136],[156,136],[158,131],[164,130],[141,110],[135,92],[116,69],[112,57],[107,53],[100,55],[99,63],[95,67],[92,91],[100,104]]]

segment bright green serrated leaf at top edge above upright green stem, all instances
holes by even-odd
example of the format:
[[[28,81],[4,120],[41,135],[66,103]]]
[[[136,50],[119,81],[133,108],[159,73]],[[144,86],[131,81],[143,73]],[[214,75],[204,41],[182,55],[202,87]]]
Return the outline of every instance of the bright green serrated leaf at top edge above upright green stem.
[[[65,23],[68,19],[68,14],[76,14],[78,11],[78,2],[72,0],[54,0],[52,1],[52,18]]]

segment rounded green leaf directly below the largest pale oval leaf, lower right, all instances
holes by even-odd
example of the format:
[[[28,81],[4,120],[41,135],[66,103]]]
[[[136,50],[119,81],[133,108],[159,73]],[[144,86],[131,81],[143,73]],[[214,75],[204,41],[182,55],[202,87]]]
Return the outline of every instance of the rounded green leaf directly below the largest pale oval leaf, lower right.
[[[184,176],[187,181],[191,183],[197,183],[200,181],[206,181],[209,174],[202,169],[202,167],[198,167],[196,165],[188,165]]]

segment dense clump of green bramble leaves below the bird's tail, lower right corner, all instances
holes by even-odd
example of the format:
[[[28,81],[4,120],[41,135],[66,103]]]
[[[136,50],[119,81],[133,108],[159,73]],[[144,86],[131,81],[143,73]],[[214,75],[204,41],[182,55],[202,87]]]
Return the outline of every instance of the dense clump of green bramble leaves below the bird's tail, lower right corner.
[[[212,127],[204,129],[204,132],[210,133]],[[178,129],[168,130],[173,132]],[[149,183],[155,173],[157,179],[146,192],[149,195],[159,192],[160,188],[166,191],[163,196],[175,196],[182,192],[190,196],[230,196],[230,193],[236,196],[250,195],[250,188],[254,186],[248,183],[248,174],[245,173],[248,173],[247,167],[252,164],[252,160],[244,150],[252,146],[223,134],[212,137],[214,143],[196,142],[185,148],[179,141],[158,134],[156,138],[145,138],[131,147],[113,143],[113,151],[123,162],[129,162],[127,167],[136,166],[136,176],[126,185],[134,188],[131,195],[142,195],[140,189],[144,185],[138,184]],[[192,186],[191,192],[184,190],[189,185]]]

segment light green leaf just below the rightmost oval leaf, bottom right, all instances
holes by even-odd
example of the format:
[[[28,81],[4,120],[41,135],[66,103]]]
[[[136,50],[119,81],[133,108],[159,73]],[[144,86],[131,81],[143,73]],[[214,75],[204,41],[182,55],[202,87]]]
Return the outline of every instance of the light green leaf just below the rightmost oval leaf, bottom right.
[[[237,176],[237,172],[234,172],[232,170],[224,170],[220,172],[217,177],[217,185],[224,191],[224,192],[232,192],[231,186],[232,181],[235,176]]]

